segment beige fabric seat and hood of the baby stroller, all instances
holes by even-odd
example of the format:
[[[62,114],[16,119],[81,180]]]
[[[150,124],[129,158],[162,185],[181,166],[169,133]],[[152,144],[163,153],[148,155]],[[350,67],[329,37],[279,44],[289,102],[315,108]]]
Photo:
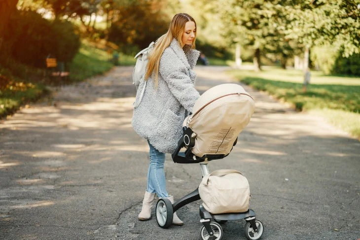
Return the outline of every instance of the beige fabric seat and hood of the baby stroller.
[[[183,124],[191,128],[192,137],[196,138],[191,152],[198,157],[229,154],[253,112],[254,101],[239,84],[220,84],[207,90],[195,102],[193,114],[185,118]]]

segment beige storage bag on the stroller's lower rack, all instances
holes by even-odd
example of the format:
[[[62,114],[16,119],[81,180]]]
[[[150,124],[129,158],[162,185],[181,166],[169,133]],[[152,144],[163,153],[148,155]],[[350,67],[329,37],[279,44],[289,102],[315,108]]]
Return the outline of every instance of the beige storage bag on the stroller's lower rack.
[[[205,209],[213,214],[249,210],[250,186],[240,171],[216,170],[205,175],[199,194]]]

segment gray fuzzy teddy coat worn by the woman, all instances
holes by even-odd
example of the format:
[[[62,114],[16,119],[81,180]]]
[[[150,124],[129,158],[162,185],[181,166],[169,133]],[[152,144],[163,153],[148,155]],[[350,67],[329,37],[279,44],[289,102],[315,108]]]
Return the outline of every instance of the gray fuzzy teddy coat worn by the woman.
[[[175,151],[182,135],[182,123],[200,97],[194,86],[196,73],[192,70],[199,54],[189,45],[182,49],[174,38],[161,55],[157,88],[150,77],[143,99],[137,105],[144,88],[144,77],[140,82],[132,126],[160,152]]]

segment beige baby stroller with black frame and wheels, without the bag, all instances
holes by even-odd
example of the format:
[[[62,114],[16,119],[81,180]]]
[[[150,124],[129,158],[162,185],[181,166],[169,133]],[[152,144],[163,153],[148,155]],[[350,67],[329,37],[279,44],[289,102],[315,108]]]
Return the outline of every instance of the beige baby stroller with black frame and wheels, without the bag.
[[[254,102],[240,85],[221,84],[203,93],[193,111],[184,120],[183,134],[172,158],[180,164],[199,163],[204,177],[210,174],[209,162],[226,157],[235,146],[237,136],[248,125],[254,112]],[[170,227],[174,212],[197,200],[200,200],[199,188],[174,204],[168,199],[159,199],[155,210],[158,225],[161,228]],[[220,240],[223,235],[220,224],[228,220],[245,219],[245,236],[248,240],[258,240],[263,233],[263,225],[255,219],[252,209],[213,214],[202,204],[200,217],[203,224],[200,230],[202,240]]]

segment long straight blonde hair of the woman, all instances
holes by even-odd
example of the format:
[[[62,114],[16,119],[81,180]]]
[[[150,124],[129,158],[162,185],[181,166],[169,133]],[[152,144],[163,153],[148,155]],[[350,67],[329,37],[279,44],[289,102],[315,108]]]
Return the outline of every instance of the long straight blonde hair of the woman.
[[[154,77],[155,86],[158,83],[158,75],[159,75],[159,65],[160,65],[160,57],[163,54],[164,50],[170,45],[172,40],[176,38],[181,45],[181,37],[185,29],[185,24],[189,21],[195,23],[195,20],[186,13],[178,13],[174,16],[173,20],[171,21],[169,30],[166,34],[160,36],[156,42],[155,46],[149,54],[147,68],[145,72],[145,81],[152,76]],[[195,39],[196,39],[196,32],[195,38],[192,42],[191,48],[195,48]]]

